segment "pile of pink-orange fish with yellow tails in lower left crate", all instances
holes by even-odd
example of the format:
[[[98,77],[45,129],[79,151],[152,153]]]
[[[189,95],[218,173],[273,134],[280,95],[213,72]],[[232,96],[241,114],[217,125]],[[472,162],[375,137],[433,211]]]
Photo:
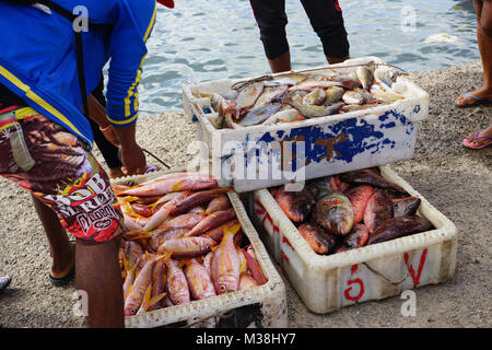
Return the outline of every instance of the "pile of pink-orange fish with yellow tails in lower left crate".
[[[174,173],[113,189],[127,230],[119,249],[126,316],[267,282],[231,188],[212,176]]]

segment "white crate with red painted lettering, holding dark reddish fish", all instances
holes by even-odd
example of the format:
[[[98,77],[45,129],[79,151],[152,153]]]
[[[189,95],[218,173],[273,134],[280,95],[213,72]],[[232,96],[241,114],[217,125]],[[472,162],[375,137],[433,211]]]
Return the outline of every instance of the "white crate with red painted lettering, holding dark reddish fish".
[[[456,226],[389,166],[379,170],[385,178],[421,198],[418,213],[435,230],[324,256],[311,248],[268,189],[251,195],[250,218],[261,240],[304,304],[315,313],[445,282],[455,273]]]

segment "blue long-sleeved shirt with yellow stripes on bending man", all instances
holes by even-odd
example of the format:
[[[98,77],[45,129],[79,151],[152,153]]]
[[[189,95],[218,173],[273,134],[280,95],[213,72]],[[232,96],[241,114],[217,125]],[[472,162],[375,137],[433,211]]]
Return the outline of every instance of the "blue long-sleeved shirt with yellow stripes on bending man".
[[[86,94],[98,84],[109,61],[108,121],[131,126],[138,118],[138,88],[145,43],[155,23],[155,0],[54,0],[108,30],[82,32]],[[82,5],[83,8],[80,8]],[[0,83],[26,104],[62,125],[91,148],[93,136],[82,114],[73,23],[39,7],[0,0]]]

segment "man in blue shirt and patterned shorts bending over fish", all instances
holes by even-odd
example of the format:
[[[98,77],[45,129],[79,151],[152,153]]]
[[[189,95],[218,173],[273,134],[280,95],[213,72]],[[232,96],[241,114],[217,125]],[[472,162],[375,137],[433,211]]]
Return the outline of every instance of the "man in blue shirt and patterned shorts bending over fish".
[[[138,88],[155,15],[155,0],[0,0],[0,174],[32,194],[38,212],[55,211],[77,238],[73,254],[66,235],[47,232],[50,279],[63,280],[77,265],[90,327],[125,320],[122,214],[90,152],[87,95],[109,61],[106,117],[96,121],[113,128],[127,173],[143,174]]]

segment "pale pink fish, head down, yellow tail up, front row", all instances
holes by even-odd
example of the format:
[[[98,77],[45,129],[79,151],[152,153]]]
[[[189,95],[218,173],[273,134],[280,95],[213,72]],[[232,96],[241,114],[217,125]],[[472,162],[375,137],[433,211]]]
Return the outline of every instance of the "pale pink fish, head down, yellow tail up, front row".
[[[234,246],[234,235],[241,225],[226,230],[221,244],[212,256],[212,282],[215,292],[221,295],[237,291],[239,283],[241,260]]]

